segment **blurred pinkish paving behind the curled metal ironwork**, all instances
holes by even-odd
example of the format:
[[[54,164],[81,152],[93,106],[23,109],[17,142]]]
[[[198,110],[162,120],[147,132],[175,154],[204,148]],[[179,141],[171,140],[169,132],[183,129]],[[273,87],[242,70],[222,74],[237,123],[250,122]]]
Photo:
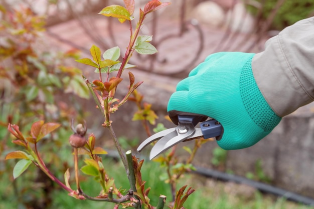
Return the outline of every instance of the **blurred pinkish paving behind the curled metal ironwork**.
[[[108,31],[108,17],[102,15],[88,16],[82,19],[89,31],[97,34],[101,39],[103,39],[107,44],[115,46],[113,41],[110,39]],[[115,19],[113,21],[116,21]],[[180,31],[179,21],[175,19],[160,18],[158,27],[156,29],[156,34],[153,40],[159,42],[163,37],[178,34]],[[127,23],[113,22],[113,33],[118,45],[121,48],[121,54],[124,53],[124,48],[128,43],[129,38],[129,25]],[[97,28],[92,28],[92,25]],[[142,33],[151,34],[149,31],[149,21],[147,24],[144,23]],[[201,25],[202,34],[204,36],[204,41],[202,43],[203,50],[196,57],[197,50],[200,45],[199,34],[197,30],[192,26],[189,26],[189,31],[184,33],[180,37],[169,38],[161,42],[157,49],[159,53],[156,54],[157,60],[154,62],[154,72],[173,74],[179,73],[182,70],[190,70],[193,66],[200,63],[204,58],[215,51],[221,50],[239,50],[243,51],[243,48],[253,43],[253,37],[248,38],[245,34],[236,34],[234,36],[229,35],[225,41],[221,42],[221,39],[225,35],[225,28],[215,28],[207,25]],[[84,29],[80,26],[79,21],[74,19],[67,22],[63,22],[54,26],[49,27],[49,31],[54,34],[58,34],[62,39],[72,42],[82,48],[89,49],[92,44],[97,45],[95,40],[92,40]],[[246,41],[243,41],[243,39]],[[67,50],[73,48],[73,46],[66,44],[64,41],[57,40],[55,37],[50,36],[50,42],[53,45],[57,45],[59,49]],[[226,47],[227,46],[227,47]],[[250,51],[257,52],[258,49],[253,49]],[[89,55],[89,54],[84,54]],[[193,66],[187,67],[191,63],[192,59],[196,59]],[[142,68],[151,70],[149,68],[149,61],[147,57],[139,59],[137,56],[131,58],[131,62],[139,65]]]

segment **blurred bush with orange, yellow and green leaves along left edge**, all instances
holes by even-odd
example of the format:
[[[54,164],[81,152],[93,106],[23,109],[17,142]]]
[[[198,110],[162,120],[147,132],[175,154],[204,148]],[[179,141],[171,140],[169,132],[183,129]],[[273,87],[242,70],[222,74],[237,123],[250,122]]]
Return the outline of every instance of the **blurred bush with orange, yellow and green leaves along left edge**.
[[[0,5],[0,178],[13,184],[12,201],[19,202],[19,208],[46,208],[51,202],[49,193],[59,188],[34,165],[21,179],[13,180],[16,160],[4,161],[7,153],[16,150],[8,124],[18,124],[25,133],[36,120],[61,123],[58,131],[40,143],[47,166],[53,164],[51,170],[62,176],[72,157],[69,152],[64,154],[69,145],[61,139],[72,132],[70,119],[83,116],[76,100],[89,97],[81,70],[68,65],[70,59],[79,57],[78,51],[54,51],[44,34],[45,22],[28,7]],[[68,100],[76,105],[69,106]]]

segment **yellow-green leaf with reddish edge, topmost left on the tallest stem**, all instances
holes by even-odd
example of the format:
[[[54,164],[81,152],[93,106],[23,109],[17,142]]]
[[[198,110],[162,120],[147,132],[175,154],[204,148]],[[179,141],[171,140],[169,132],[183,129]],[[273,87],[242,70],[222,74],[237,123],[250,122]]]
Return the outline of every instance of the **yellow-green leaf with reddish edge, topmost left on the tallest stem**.
[[[99,14],[105,15],[105,16],[112,16],[115,18],[118,18],[118,20],[123,23],[125,20],[131,20],[130,19],[130,13],[128,10],[120,5],[110,5],[103,8]]]

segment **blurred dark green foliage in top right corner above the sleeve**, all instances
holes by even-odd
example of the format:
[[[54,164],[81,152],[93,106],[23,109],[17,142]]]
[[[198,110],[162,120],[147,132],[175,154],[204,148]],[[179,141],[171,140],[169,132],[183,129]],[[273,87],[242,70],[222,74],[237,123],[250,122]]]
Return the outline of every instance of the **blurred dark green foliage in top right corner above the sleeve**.
[[[262,6],[262,18],[266,20],[276,7],[278,0],[257,0]],[[249,11],[253,14],[258,12],[256,7],[248,6]],[[313,0],[285,0],[278,9],[271,29],[282,30],[284,27],[293,24],[294,22],[314,15]]]

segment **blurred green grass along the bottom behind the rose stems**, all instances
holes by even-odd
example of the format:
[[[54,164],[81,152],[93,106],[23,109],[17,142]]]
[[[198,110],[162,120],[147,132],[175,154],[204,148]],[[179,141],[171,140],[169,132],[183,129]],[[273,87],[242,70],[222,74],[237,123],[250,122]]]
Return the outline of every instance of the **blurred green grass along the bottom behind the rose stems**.
[[[110,176],[115,178],[117,187],[122,186],[128,188],[128,180],[121,164],[117,164],[112,160],[106,160],[105,165],[112,165],[107,168]],[[151,187],[149,192],[149,198],[153,205],[156,205],[160,194],[165,194],[171,199],[170,187],[167,183],[160,180],[160,176],[163,174],[163,167],[160,167],[159,163],[145,161],[142,167],[142,178],[146,180],[146,187]],[[73,175],[73,173],[72,173]],[[2,176],[4,177],[4,176]],[[5,175],[8,178],[8,174]],[[21,176],[22,177],[22,176]],[[82,182],[81,186],[85,193],[89,195],[97,195],[100,191],[100,186],[93,181],[92,178],[88,178]],[[198,208],[198,209],[310,209],[313,207],[296,204],[286,201],[282,198],[275,198],[270,195],[262,195],[258,191],[252,190],[249,195],[241,196],[239,194],[236,184],[217,182],[214,180],[206,179],[202,176],[187,174],[181,179],[178,186],[188,184],[196,188],[197,190],[190,195],[186,204],[186,208]],[[75,186],[74,183],[72,186]],[[4,195],[5,193],[5,195]],[[18,204],[17,197],[13,195],[13,186],[9,180],[2,180],[0,184],[0,208],[25,208]],[[112,203],[108,202],[96,202],[90,200],[77,200],[67,195],[66,191],[54,190],[51,195],[53,196],[53,202],[51,208],[68,209],[68,208],[113,208]],[[119,207],[122,208],[122,207]]]

